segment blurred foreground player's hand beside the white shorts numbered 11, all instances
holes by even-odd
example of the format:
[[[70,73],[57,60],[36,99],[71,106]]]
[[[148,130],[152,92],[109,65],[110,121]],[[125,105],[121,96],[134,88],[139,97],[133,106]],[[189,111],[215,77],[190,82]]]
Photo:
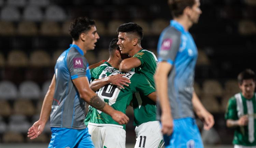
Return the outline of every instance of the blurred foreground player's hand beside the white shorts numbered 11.
[[[173,119],[170,114],[162,114],[161,125],[163,135],[171,135],[173,132]]]

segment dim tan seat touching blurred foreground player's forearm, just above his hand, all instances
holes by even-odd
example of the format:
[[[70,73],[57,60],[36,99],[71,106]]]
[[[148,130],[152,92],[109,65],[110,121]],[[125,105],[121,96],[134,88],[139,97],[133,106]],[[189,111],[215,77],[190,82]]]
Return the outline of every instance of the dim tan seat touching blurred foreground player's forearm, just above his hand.
[[[205,109],[211,113],[218,113],[219,110],[219,104],[217,102],[217,99],[212,95],[204,95],[201,97],[201,102]]]

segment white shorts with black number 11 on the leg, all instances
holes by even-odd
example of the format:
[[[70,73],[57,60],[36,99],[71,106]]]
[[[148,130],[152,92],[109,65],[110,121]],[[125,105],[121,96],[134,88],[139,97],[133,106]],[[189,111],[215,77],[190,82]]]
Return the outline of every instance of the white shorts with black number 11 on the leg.
[[[164,144],[159,121],[150,121],[136,126],[135,133],[134,148],[161,148]]]

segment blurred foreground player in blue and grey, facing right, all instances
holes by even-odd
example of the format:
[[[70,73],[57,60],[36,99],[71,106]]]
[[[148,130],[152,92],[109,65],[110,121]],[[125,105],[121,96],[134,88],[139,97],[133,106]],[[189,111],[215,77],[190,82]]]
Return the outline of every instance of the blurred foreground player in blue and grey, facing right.
[[[168,3],[174,19],[162,31],[158,42],[159,65],[154,76],[160,101],[157,118],[161,121],[166,148],[203,148],[193,109],[206,130],[214,125],[214,119],[193,88],[197,47],[188,32],[202,13],[200,2],[169,0]]]

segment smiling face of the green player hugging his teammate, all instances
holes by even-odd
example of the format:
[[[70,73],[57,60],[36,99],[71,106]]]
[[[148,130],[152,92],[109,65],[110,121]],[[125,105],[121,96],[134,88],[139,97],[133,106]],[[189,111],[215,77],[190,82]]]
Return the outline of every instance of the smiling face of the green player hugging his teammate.
[[[117,45],[122,54],[129,54],[133,49],[132,38],[126,32],[119,32]]]

